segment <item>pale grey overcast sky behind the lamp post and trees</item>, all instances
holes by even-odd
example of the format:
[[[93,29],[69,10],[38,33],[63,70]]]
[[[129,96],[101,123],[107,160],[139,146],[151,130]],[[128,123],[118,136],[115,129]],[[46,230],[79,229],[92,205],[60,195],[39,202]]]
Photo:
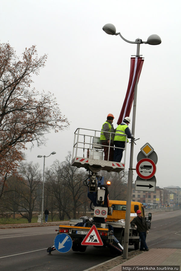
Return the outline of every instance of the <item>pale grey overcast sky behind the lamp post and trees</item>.
[[[146,41],[157,34],[162,40],[157,46],[140,46],[144,64],[135,125],[135,138],[140,140],[134,148],[133,167],[140,148],[149,142],[158,156],[156,185],[181,187],[180,8],[176,0],[1,0],[1,42],[9,42],[17,55],[32,45],[37,45],[39,56],[48,54],[46,67],[33,77],[32,88],[52,92],[70,121],[68,130],[47,135],[46,147],[26,151],[27,160],[39,162],[42,170],[43,158],[38,154],[56,151],[46,158],[46,167],[55,159],[65,160],[72,151],[75,130],[100,130],[108,113],[114,115],[116,128],[136,45],[103,32],[104,24],[113,23],[125,39]]]

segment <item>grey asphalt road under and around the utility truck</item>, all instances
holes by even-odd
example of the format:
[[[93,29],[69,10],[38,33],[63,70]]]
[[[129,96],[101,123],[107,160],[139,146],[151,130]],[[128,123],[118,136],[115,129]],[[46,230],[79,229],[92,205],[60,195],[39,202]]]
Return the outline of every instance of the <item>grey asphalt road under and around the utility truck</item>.
[[[53,245],[58,226],[0,229],[1,271],[61,270],[83,271],[110,260],[109,249],[88,247],[85,253],[59,253],[49,256],[46,249]],[[152,214],[147,235],[149,248],[180,248],[181,210]],[[131,247],[130,247],[131,248]]]

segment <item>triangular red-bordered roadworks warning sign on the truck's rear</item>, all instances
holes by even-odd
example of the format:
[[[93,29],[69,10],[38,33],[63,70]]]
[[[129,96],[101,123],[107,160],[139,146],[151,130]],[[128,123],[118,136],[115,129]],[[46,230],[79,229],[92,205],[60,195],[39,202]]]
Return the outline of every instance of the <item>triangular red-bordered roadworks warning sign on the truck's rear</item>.
[[[99,232],[95,225],[93,225],[90,231],[87,233],[84,240],[81,242],[81,245],[86,246],[103,246],[103,242],[100,238]]]

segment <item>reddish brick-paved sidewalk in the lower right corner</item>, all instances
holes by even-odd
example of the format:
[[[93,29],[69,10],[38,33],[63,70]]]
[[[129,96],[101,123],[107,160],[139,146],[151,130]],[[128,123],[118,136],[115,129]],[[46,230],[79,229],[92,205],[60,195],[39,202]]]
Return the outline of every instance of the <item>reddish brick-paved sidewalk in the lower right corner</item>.
[[[181,266],[181,249],[151,248],[109,270],[121,271],[121,266]]]

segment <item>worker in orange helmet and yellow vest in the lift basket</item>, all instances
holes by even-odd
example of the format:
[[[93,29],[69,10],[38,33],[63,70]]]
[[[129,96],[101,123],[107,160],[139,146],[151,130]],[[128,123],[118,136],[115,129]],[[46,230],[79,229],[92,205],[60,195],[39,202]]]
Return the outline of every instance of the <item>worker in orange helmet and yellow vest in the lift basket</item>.
[[[113,114],[107,115],[107,120],[103,123],[101,133],[100,133],[101,144],[105,146],[104,160],[109,160],[109,161],[113,161],[113,156],[114,156],[114,148],[106,147],[106,146],[114,147],[115,129],[113,127],[113,119],[114,119]],[[109,159],[108,159],[108,153],[109,153]]]

